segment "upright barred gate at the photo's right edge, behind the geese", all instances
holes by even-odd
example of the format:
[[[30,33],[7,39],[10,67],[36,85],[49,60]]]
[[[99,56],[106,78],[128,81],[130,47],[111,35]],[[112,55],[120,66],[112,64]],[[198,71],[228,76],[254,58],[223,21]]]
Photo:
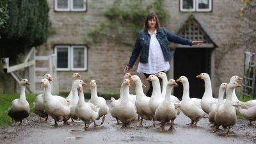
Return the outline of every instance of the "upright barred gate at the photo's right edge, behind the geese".
[[[255,52],[244,52],[244,74],[241,94],[247,97],[256,97],[256,56]]]

